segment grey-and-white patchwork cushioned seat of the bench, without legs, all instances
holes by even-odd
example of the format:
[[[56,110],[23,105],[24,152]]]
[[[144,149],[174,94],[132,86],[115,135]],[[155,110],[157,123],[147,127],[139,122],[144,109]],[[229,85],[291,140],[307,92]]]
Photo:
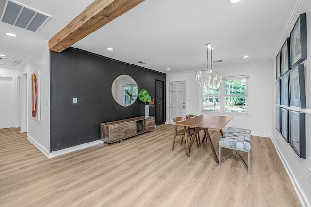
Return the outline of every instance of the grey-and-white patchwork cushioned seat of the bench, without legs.
[[[251,131],[249,129],[229,127],[219,140],[219,146],[249,152],[251,150],[250,142]]]

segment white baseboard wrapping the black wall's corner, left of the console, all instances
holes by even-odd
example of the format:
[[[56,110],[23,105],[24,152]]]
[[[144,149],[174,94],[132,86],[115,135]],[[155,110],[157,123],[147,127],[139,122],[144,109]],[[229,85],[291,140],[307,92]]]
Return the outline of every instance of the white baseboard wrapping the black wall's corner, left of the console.
[[[103,144],[104,141],[102,140],[96,140],[90,143],[84,143],[84,144],[80,144],[77,146],[72,146],[66,149],[61,149],[61,150],[57,150],[57,151],[53,151],[53,152],[49,152],[49,150],[46,150],[43,146],[41,146],[39,143],[37,143],[33,138],[31,138],[30,136],[27,136],[27,139],[29,140],[29,142],[33,143],[35,145],[36,148],[38,148],[47,158],[53,158],[59,155],[64,155],[66,153],[69,152],[74,152],[77,150],[81,150],[81,149],[86,149],[88,147],[91,146],[95,146],[97,144]]]

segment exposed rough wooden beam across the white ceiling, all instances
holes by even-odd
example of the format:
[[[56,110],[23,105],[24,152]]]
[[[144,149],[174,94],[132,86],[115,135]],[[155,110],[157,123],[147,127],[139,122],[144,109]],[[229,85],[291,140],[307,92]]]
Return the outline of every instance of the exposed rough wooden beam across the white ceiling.
[[[49,40],[49,50],[62,52],[144,0],[94,0],[80,15]]]

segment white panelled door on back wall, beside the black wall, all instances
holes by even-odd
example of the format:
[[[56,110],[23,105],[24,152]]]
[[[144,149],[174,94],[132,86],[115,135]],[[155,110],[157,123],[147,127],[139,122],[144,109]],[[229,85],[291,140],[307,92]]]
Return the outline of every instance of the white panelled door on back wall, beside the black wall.
[[[173,124],[173,118],[185,117],[185,81],[169,83],[169,123]]]

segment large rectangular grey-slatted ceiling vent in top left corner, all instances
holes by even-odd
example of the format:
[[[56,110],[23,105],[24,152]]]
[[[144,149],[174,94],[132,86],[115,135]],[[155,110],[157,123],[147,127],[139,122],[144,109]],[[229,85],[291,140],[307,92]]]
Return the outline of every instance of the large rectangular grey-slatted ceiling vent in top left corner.
[[[41,30],[52,17],[14,0],[0,0],[0,15],[2,22],[33,32]]]

